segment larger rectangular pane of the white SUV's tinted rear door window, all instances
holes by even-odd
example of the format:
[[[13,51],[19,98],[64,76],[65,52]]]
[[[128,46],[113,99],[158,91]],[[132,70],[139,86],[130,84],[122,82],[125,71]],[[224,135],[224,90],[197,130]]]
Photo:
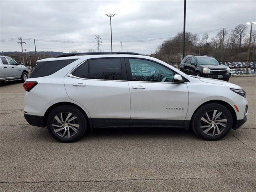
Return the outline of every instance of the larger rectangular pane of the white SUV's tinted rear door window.
[[[120,58],[89,60],[89,78],[104,80],[122,80]]]

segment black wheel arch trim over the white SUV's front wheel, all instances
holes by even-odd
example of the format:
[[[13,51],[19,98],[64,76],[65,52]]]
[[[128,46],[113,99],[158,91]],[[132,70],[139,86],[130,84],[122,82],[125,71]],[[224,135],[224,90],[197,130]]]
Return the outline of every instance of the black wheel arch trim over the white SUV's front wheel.
[[[237,123],[237,116],[236,116],[236,112],[234,110],[234,108],[227,102],[225,101],[222,101],[222,100],[210,100],[210,101],[207,101],[207,102],[204,102],[202,103],[200,106],[198,106],[198,108],[196,108],[196,110],[194,111],[192,117],[191,117],[191,120],[194,118],[194,114],[196,114],[196,112],[198,111],[198,109],[200,107],[202,107],[203,105],[205,104],[210,104],[210,103],[218,103],[218,104],[221,104],[223,106],[225,106],[226,108],[228,108],[228,110],[231,112],[231,115],[232,115],[232,118],[233,118],[233,124],[232,124],[232,129],[236,130],[236,123]],[[190,120],[190,126],[191,126],[191,121]]]

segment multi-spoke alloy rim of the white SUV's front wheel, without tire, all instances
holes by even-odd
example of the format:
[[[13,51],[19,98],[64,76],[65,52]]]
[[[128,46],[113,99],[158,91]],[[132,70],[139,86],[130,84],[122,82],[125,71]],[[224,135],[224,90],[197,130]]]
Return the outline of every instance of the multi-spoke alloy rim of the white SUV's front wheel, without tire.
[[[202,132],[209,136],[221,134],[226,127],[226,116],[218,110],[206,112],[200,120],[200,128],[202,129]]]

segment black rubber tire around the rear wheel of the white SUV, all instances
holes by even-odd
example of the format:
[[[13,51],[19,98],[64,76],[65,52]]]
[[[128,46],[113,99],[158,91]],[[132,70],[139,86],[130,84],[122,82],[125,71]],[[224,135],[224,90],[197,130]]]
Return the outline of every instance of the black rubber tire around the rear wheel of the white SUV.
[[[77,132],[74,132],[74,130],[71,129],[69,127],[69,125],[65,125],[65,128],[63,128],[63,130],[61,130],[57,133],[54,132],[54,130],[57,129],[56,127],[53,126],[54,121],[56,121],[55,116],[57,116],[60,113],[63,113],[63,119],[66,118],[64,116],[64,114],[67,114],[67,113],[71,113],[73,116],[76,116],[76,121],[78,121],[78,124],[79,124],[79,128],[77,129]],[[61,124],[59,124],[59,125],[61,125]],[[67,130],[70,129],[69,132],[73,132],[73,134],[74,134],[69,138],[66,135],[67,133],[65,134],[64,137],[59,135],[59,134],[62,134],[62,132],[64,133],[64,131],[66,130],[66,126],[68,127]],[[60,142],[64,142],[64,143],[75,142],[75,141],[79,140],[84,135],[86,128],[87,128],[87,121],[86,121],[86,117],[84,116],[84,114],[81,110],[79,110],[78,108],[75,108],[73,106],[64,105],[64,106],[59,106],[50,112],[50,114],[48,115],[48,118],[47,118],[47,128],[48,128],[48,132],[54,139],[56,139]]]

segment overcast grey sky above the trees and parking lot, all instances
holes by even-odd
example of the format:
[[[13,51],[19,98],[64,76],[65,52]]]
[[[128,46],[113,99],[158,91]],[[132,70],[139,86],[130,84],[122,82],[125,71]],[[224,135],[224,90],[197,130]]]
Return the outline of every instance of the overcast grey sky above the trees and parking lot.
[[[104,14],[114,13],[113,51],[121,51],[123,41],[123,51],[149,54],[164,38],[183,30],[183,6],[184,0],[0,0],[0,39],[35,38],[38,51],[87,52],[96,50],[95,43],[81,42],[94,42],[100,35],[106,52],[111,50],[110,19]],[[187,0],[186,31],[200,36],[204,32],[215,36],[221,28],[233,29],[252,20],[256,20],[256,0]],[[24,49],[34,51],[33,41],[24,42]],[[0,42],[1,52],[20,50],[17,40]]]

